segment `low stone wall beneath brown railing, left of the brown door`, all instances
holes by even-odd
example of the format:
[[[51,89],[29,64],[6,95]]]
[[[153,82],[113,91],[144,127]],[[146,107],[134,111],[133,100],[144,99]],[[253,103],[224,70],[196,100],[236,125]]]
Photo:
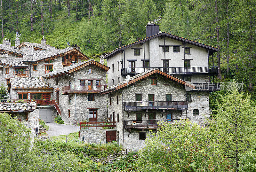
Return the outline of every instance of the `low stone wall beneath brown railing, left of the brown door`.
[[[101,144],[106,143],[106,131],[115,131],[116,129],[81,129],[80,139],[85,143]]]

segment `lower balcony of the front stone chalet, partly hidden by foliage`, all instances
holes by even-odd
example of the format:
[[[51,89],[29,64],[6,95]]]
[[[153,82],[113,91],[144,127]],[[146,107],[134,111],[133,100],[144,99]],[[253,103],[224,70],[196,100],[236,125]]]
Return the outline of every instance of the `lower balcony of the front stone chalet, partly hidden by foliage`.
[[[158,122],[178,122],[180,119],[170,120],[129,120],[124,121],[124,129],[157,129]]]

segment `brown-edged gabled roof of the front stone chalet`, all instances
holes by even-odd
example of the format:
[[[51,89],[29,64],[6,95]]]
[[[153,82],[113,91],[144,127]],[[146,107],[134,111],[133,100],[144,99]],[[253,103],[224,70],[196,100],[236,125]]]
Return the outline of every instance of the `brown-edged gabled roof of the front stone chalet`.
[[[163,75],[163,76],[165,76],[167,78],[170,78],[170,79],[172,79],[175,82],[180,82],[181,84],[184,84],[184,85],[186,85],[188,87],[195,88],[194,85],[191,85],[190,83],[188,83],[186,81],[183,81],[180,78],[177,78],[175,76],[167,74],[167,73],[165,73],[163,71],[160,71],[158,69],[151,69],[151,70],[148,70],[146,72],[142,72],[140,74],[137,74],[137,75],[131,77],[129,80],[125,79],[125,80],[123,80],[122,82],[120,82],[120,83],[118,83],[116,85],[110,86],[110,87],[106,88],[105,90],[101,91],[100,93],[101,94],[106,94],[106,93],[109,93],[109,92],[112,92],[112,91],[115,91],[115,90],[119,90],[119,89],[121,89],[123,87],[126,87],[127,86],[127,82],[128,82],[128,85],[130,85],[133,82],[139,81],[139,80],[141,80],[141,79],[143,79],[143,78],[145,78],[145,77],[147,77],[149,75],[156,74],[156,73],[157,74],[161,74],[161,75]]]

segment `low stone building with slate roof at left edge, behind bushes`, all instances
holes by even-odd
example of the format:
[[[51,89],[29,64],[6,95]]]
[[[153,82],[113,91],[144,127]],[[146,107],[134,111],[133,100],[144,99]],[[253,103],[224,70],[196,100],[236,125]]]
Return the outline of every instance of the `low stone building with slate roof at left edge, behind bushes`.
[[[39,109],[35,102],[0,102],[0,112],[9,113],[20,122],[24,122],[31,130],[31,142],[36,136],[36,127],[39,131]]]

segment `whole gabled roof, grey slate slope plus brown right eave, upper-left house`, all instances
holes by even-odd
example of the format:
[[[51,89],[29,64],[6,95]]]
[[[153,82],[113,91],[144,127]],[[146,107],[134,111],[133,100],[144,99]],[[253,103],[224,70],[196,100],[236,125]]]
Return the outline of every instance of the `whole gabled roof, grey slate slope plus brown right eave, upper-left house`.
[[[79,59],[82,59],[82,60],[89,59],[87,56],[85,56],[82,52],[78,51],[76,48],[64,48],[64,49],[54,49],[49,51],[33,50],[32,56],[28,55],[28,51],[24,51],[23,62],[36,62],[36,61],[45,60],[49,58],[55,58],[60,55],[68,54],[70,52],[75,52],[79,56]]]

